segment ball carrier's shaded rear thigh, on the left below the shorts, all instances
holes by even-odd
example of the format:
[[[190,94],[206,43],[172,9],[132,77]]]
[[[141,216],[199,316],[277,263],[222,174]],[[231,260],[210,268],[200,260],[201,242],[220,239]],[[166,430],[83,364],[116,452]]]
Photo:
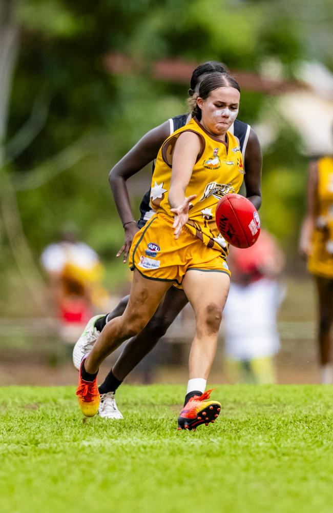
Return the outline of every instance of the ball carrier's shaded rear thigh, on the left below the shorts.
[[[147,324],[170,287],[171,282],[149,280],[134,269],[130,298],[123,313],[124,320],[140,319],[142,324]]]

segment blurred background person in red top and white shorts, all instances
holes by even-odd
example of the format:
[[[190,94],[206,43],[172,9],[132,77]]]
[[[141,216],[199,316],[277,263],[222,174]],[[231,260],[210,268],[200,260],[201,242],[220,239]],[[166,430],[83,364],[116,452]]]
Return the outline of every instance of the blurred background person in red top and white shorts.
[[[261,230],[251,248],[230,246],[232,280],[223,325],[225,368],[232,383],[275,382],[273,357],[280,347],[276,317],[284,297],[277,277],[283,264],[282,252],[267,231]]]

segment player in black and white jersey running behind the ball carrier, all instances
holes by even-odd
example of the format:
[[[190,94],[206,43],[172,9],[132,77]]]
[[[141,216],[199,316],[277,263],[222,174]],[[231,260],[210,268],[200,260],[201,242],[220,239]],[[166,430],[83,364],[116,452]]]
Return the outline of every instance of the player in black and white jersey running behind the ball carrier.
[[[198,92],[204,77],[212,72],[222,73],[224,71],[224,65],[216,62],[206,62],[198,66],[193,71],[191,77],[190,97]],[[114,166],[110,173],[110,183],[114,199],[125,231],[125,241],[117,256],[119,257],[123,254],[124,262],[127,261],[133,236],[138,231],[138,227],[144,226],[154,214],[154,210],[150,206],[151,191],[149,190],[141,202],[141,217],[136,225],[133,220],[126,181],[130,176],[154,160],[159,147],[165,139],[174,130],[184,126],[186,121],[190,121],[190,119],[191,114],[181,114],[151,130]],[[262,157],[257,136],[249,125],[237,119],[230,127],[230,131],[233,131],[238,138],[244,157],[246,196],[259,208],[261,202],[260,175]],[[106,322],[121,315],[127,306],[127,302],[128,297],[124,298],[111,313],[96,316],[87,325],[73,352],[73,361],[77,369],[84,354],[88,353],[93,347]],[[122,418],[114,399],[116,389],[142,358],[156,345],[187,303],[188,299],[183,290],[175,287],[170,288],[148,325],[141,333],[128,342],[106,380],[99,387],[101,392],[99,415],[101,417],[109,419]]]

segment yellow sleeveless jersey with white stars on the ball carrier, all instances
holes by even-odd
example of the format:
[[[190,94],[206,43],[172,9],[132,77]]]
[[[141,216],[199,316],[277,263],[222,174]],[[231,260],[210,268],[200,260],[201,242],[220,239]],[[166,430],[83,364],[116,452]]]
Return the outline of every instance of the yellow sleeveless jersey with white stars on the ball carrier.
[[[195,117],[176,130],[158,152],[152,178],[151,205],[157,214],[174,217],[168,202],[172,156],[178,136],[186,131],[197,133],[201,139],[201,152],[185,191],[186,197],[197,195],[190,205],[186,227],[206,246],[225,253],[215,223],[215,210],[222,196],[239,191],[244,175],[239,141],[232,133],[227,132],[226,143],[223,143],[206,132]]]

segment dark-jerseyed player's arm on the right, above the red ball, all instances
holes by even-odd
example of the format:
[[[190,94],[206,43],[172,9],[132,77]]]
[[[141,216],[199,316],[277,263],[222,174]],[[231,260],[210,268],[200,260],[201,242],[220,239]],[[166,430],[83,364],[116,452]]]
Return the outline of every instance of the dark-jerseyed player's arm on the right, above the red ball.
[[[251,128],[245,150],[244,183],[246,198],[254,204],[257,210],[261,206],[261,166],[262,153],[260,143],[256,132]]]

